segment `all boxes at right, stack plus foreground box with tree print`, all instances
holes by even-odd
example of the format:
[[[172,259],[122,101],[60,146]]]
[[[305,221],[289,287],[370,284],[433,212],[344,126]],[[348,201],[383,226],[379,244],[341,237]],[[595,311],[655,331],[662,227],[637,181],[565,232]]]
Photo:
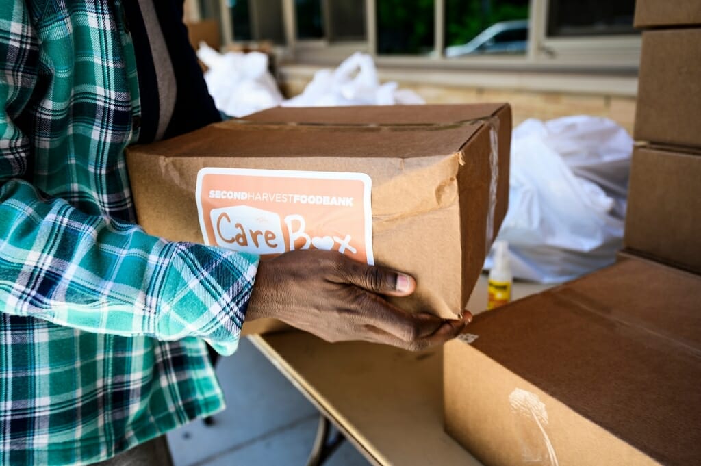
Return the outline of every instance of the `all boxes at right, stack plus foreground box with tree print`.
[[[636,25],[625,252],[444,348],[446,430],[485,465],[701,464],[701,2]]]

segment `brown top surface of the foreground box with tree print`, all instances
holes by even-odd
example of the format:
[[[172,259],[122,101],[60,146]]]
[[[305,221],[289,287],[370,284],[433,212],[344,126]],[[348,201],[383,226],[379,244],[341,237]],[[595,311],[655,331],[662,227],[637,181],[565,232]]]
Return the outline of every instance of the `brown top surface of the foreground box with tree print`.
[[[475,348],[652,458],[701,461],[701,277],[627,259],[470,331]]]

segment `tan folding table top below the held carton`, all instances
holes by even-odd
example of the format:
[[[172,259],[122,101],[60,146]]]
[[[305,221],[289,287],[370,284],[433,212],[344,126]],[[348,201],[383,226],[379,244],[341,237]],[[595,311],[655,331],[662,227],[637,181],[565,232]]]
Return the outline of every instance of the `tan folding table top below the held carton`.
[[[442,348],[327,343],[303,331],[252,342],[371,460],[363,464],[482,466],[443,430]]]

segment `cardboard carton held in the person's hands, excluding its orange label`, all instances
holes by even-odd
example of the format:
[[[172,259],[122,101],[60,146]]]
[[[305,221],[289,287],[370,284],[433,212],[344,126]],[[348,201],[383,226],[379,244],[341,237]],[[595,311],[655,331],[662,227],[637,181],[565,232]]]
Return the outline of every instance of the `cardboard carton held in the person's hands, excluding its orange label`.
[[[368,174],[375,263],[418,282],[395,302],[454,318],[506,212],[510,133],[508,104],[271,109],[131,147],[127,161],[139,224],[193,242],[203,167]]]

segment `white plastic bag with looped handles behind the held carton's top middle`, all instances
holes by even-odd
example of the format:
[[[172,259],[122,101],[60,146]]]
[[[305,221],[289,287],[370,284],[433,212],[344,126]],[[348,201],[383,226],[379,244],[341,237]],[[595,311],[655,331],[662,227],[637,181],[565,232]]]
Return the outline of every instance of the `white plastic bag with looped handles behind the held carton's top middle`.
[[[397,90],[397,83],[380,84],[370,55],[354,53],[335,70],[322,69],[297,97],[283,107],[334,107],[346,105],[424,104],[411,90]]]

